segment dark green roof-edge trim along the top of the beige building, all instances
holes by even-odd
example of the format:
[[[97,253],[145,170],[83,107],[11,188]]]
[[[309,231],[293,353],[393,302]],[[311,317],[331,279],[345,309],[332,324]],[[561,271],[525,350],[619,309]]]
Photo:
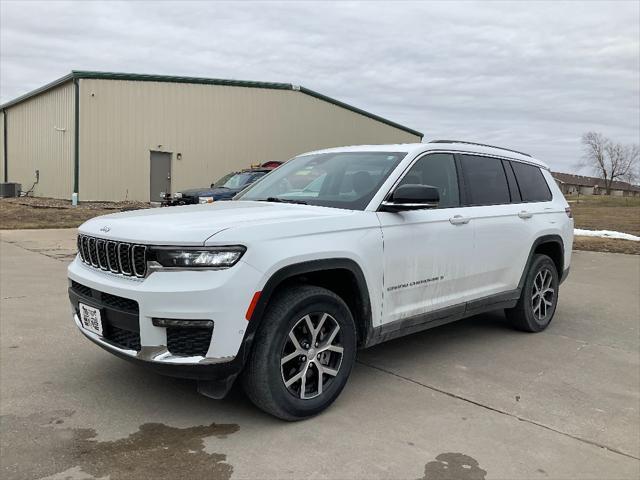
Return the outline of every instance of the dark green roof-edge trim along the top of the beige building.
[[[341,102],[340,100],[336,100],[335,98],[328,97],[321,93],[315,92],[305,87],[300,87],[296,85],[292,85],[290,83],[278,83],[278,82],[254,82],[247,80],[224,80],[220,78],[203,78],[203,77],[181,77],[181,76],[173,76],[173,75],[145,75],[138,73],[117,73],[117,72],[94,72],[94,71],[85,71],[85,70],[73,70],[70,74],[65,75],[57,80],[54,80],[51,83],[48,83],[40,88],[32,90],[24,95],[21,95],[9,102],[0,105],[0,110],[4,110],[6,108],[17,105],[18,103],[24,102],[31,97],[35,97],[36,95],[40,95],[41,93],[45,93],[53,88],[56,88],[66,82],[77,80],[77,79],[97,79],[97,80],[130,80],[136,82],[167,82],[167,83],[189,83],[189,84],[200,84],[200,85],[221,85],[227,87],[245,87],[245,88],[267,88],[272,90],[292,90],[299,91],[300,93],[304,93],[305,95],[309,95],[311,97],[317,98],[319,100],[331,103],[338,107],[344,108],[346,110],[350,110],[352,112],[358,113],[365,117],[371,118],[378,122],[384,123],[391,127],[404,130],[412,135],[416,135],[420,138],[424,137],[424,134],[418,132],[417,130],[413,130],[411,128],[405,127],[404,125],[400,125],[399,123],[388,120],[384,117],[380,117],[373,113],[367,112],[360,108],[354,107],[353,105],[349,105],[348,103]]]

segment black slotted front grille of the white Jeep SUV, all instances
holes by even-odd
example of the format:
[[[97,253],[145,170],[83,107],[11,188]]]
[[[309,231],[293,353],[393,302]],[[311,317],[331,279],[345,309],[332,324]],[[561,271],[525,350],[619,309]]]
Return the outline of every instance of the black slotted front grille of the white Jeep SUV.
[[[78,253],[94,268],[143,278],[147,274],[147,247],[78,235]]]

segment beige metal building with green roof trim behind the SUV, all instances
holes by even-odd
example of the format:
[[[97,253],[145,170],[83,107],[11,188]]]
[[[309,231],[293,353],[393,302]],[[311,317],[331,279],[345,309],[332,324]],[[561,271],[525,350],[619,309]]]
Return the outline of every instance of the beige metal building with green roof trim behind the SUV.
[[[325,147],[422,133],[287,83],[73,71],[0,106],[0,178],[34,195],[157,201]]]

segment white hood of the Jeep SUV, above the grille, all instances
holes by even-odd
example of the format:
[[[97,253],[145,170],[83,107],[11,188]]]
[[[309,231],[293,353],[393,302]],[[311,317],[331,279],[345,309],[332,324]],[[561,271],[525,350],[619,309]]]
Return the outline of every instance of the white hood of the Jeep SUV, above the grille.
[[[350,210],[289,203],[233,201],[149,208],[92,218],[80,233],[152,245],[202,245],[209,237],[243,224],[273,225],[350,215]]]

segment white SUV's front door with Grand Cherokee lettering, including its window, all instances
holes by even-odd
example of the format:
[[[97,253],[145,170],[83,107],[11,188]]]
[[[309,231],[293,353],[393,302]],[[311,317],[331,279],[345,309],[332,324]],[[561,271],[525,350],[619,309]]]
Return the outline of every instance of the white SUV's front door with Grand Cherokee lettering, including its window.
[[[461,305],[471,288],[473,225],[460,206],[453,154],[418,159],[398,186],[404,184],[436,187],[440,202],[438,208],[378,213],[384,245],[384,323]]]

